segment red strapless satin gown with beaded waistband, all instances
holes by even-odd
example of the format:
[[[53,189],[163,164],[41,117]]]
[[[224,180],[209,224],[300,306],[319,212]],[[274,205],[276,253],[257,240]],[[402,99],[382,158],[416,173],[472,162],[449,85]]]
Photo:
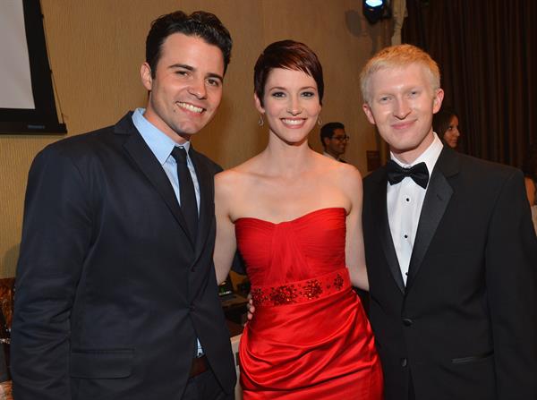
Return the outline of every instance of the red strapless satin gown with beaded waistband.
[[[345,209],[235,222],[256,311],[239,360],[243,398],[380,400],[369,321],[345,268]]]

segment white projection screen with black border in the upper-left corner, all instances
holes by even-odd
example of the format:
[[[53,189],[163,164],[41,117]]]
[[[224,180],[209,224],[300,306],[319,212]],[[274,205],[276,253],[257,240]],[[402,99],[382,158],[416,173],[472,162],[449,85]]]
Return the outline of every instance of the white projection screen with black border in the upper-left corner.
[[[38,0],[0,4],[0,133],[66,132],[57,118]]]

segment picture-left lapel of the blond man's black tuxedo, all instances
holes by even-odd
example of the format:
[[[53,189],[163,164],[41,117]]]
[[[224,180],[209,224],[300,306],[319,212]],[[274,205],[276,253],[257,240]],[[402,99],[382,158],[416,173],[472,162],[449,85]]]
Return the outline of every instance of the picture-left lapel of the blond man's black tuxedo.
[[[392,235],[389,230],[388,209],[386,205],[386,188],[388,180],[385,171],[380,175],[380,179],[375,185],[372,185],[371,209],[374,214],[372,220],[379,222],[376,229],[379,232],[379,240],[380,243],[382,243],[382,249],[384,250],[386,260],[388,261],[389,270],[396,281],[397,287],[402,294],[405,294],[405,283],[403,282],[401,268],[399,268],[399,261],[397,260],[396,248],[394,247]]]

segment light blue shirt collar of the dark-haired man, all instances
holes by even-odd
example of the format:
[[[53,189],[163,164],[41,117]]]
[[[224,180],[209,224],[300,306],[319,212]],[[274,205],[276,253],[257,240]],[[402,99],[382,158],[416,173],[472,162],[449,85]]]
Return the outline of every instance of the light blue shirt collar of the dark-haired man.
[[[153,152],[155,157],[157,157],[158,162],[161,166],[166,163],[167,157],[170,156],[172,150],[177,143],[172,140],[166,134],[160,131],[155,125],[150,123],[143,114],[145,113],[145,108],[136,108],[132,113],[132,123],[138,132],[140,132],[141,137],[149,146],[149,149]],[[184,142],[181,147],[183,147],[186,152],[190,149],[190,141]]]

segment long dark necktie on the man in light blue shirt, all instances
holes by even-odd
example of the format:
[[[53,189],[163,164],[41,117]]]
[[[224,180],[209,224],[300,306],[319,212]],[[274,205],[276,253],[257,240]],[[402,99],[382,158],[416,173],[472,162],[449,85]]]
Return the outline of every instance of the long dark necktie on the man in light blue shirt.
[[[186,150],[175,146],[172,150],[172,157],[177,162],[181,211],[186,220],[192,241],[195,241],[196,234],[198,234],[198,204],[196,201],[196,192],[194,191],[194,183],[192,183],[192,176],[186,164]]]

